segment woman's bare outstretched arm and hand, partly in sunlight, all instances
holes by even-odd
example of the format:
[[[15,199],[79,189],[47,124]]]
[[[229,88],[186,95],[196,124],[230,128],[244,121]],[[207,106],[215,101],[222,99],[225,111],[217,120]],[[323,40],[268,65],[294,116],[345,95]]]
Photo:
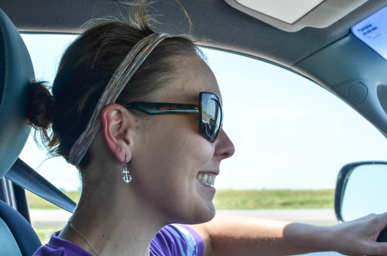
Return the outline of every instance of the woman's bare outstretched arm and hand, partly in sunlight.
[[[203,238],[205,256],[286,256],[325,251],[387,256],[387,243],[376,242],[386,226],[387,214],[333,226],[240,216],[215,217],[208,223],[191,225]]]

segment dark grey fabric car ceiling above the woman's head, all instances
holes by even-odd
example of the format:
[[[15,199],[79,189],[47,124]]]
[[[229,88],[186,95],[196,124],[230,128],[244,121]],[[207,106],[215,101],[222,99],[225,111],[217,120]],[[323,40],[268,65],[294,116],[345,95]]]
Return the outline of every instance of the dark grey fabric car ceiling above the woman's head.
[[[125,1],[125,0],[124,0]],[[340,0],[337,0],[340,1]],[[291,67],[349,34],[350,28],[381,8],[387,0],[369,0],[324,29],[284,32],[234,9],[224,0],[180,0],[203,46],[222,49]],[[128,7],[113,0],[0,0],[0,8],[19,32],[76,33],[92,18],[128,16]],[[175,0],[158,0],[151,11],[161,24],[156,32],[188,32],[188,20]]]

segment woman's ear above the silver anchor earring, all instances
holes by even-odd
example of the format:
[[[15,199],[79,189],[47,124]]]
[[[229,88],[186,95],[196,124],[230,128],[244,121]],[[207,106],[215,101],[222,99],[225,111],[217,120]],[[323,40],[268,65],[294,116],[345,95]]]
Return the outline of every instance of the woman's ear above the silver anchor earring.
[[[106,144],[115,158],[126,163],[132,158],[135,117],[123,106],[112,103],[101,111]]]

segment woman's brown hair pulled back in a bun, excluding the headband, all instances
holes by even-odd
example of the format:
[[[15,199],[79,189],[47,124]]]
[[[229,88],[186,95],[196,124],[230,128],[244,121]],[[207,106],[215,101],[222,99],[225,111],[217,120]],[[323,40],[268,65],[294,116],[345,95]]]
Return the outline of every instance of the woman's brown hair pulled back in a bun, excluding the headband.
[[[52,156],[63,156],[67,161],[118,65],[137,42],[154,33],[142,3],[132,12],[130,22],[103,19],[87,26],[64,52],[52,87],[34,81],[30,89],[27,117],[35,128],[35,140],[40,135]],[[135,72],[116,103],[153,100],[174,79],[176,64],[170,57],[176,55],[203,57],[188,35],[163,40]],[[86,154],[79,166],[85,167],[88,159]]]

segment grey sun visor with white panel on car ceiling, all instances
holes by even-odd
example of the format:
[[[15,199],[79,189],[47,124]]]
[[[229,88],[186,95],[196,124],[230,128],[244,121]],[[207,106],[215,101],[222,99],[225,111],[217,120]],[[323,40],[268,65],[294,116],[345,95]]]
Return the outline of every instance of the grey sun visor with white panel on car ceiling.
[[[225,0],[229,5],[286,32],[326,28],[368,0]]]

